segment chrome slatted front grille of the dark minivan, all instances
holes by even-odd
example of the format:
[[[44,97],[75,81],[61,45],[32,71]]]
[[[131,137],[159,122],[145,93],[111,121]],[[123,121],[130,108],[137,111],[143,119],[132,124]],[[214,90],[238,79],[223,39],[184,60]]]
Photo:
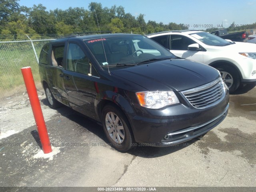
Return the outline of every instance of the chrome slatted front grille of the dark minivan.
[[[222,79],[219,78],[203,86],[182,91],[182,94],[192,106],[203,109],[214,106],[222,101],[226,91]]]

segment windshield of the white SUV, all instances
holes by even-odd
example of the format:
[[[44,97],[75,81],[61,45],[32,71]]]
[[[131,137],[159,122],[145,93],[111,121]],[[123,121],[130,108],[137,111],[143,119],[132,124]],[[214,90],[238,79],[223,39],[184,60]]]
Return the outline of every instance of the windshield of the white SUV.
[[[227,46],[231,44],[227,40],[224,40],[216,35],[213,35],[207,32],[197,32],[190,35],[200,40],[204,44],[210,45],[210,46]]]

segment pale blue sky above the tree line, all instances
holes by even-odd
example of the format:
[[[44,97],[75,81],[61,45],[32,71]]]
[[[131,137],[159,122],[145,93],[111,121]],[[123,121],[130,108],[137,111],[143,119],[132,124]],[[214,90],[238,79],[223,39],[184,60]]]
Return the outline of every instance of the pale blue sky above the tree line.
[[[157,23],[185,24],[189,29],[211,27],[226,28],[256,22],[256,0],[20,0],[20,6],[32,8],[42,4],[46,10],[56,8],[66,10],[69,7],[83,7],[88,10],[90,2],[102,4],[102,8],[123,6],[125,13],[137,17],[144,14],[148,20]]]

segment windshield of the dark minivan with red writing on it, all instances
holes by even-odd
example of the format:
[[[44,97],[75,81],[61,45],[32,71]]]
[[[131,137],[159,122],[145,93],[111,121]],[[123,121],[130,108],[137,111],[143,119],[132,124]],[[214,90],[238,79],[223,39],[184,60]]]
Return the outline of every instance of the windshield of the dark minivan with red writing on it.
[[[84,42],[103,68],[135,66],[144,62],[176,58],[169,50],[142,35],[112,34],[98,39],[86,39]]]

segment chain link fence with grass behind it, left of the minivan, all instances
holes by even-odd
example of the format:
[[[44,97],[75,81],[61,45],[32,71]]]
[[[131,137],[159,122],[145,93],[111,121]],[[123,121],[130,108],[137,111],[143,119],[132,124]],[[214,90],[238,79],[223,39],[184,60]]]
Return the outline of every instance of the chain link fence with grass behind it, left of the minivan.
[[[0,98],[26,92],[22,67],[31,67],[36,88],[42,89],[38,58],[42,46],[51,40],[0,41]]]

